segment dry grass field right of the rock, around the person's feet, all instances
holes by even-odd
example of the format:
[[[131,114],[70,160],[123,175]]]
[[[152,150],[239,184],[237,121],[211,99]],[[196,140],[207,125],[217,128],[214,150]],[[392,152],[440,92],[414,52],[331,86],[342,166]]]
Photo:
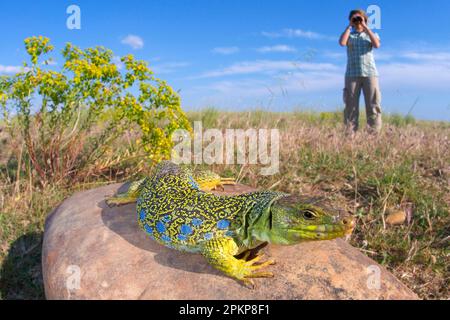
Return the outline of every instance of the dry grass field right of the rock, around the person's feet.
[[[194,114],[203,126],[279,128],[280,172],[217,166],[254,187],[325,196],[358,217],[351,243],[422,298],[448,299],[450,281],[450,125],[386,117],[383,132],[348,136],[340,114]],[[206,124],[205,124],[206,123]],[[389,226],[390,210],[409,222]]]

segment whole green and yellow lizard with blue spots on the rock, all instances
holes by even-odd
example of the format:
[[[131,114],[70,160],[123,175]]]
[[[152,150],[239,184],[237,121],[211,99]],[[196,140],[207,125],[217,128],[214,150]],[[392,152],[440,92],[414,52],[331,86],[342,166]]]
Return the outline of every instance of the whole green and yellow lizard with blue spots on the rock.
[[[107,203],[137,201],[139,226],[152,239],[176,250],[200,253],[215,268],[251,286],[250,278],[273,276],[261,269],[274,261],[259,263],[262,255],[247,261],[249,249],[264,242],[293,245],[334,239],[353,230],[351,217],[341,218],[289,194],[258,191],[217,196],[205,192],[220,184],[215,174],[196,173],[163,161],[151,177],[131,184],[127,193]]]

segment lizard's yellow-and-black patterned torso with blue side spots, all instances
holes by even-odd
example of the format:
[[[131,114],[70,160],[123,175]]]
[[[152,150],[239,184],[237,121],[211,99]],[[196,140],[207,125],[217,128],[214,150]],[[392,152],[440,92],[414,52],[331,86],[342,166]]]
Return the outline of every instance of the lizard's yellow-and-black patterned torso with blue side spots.
[[[279,196],[280,193],[269,191],[238,196],[206,193],[199,190],[189,171],[164,161],[145,181],[137,200],[138,220],[157,242],[199,252],[204,241],[236,237],[245,221],[242,217]]]

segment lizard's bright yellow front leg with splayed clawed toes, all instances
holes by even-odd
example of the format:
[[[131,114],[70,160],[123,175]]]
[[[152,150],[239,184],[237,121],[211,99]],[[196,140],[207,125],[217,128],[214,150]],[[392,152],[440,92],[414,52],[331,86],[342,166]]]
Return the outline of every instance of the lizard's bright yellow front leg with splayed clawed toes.
[[[216,269],[223,271],[228,276],[244,282],[245,285],[254,287],[250,278],[270,278],[272,272],[258,271],[268,265],[274,264],[273,260],[255,264],[263,255],[258,255],[250,261],[237,259],[235,255],[239,252],[237,244],[232,238],[219,238],[207,241],[202,254],[206,260]]]

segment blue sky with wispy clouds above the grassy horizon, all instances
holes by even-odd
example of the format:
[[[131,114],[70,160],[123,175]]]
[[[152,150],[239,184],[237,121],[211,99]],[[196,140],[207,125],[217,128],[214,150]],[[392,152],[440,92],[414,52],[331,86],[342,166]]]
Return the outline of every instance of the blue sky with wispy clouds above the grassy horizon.
[[[71,4],[81,30],[66,27]],[[147,60],[185,109],[338,110],[346,56],[337,40],[349,10],[369,5],[381,9],[384,111],[450,121],[447,0],[2,1],[0,73],[26,59],[24,38],[44,35],[58,50],[103,45]]]

